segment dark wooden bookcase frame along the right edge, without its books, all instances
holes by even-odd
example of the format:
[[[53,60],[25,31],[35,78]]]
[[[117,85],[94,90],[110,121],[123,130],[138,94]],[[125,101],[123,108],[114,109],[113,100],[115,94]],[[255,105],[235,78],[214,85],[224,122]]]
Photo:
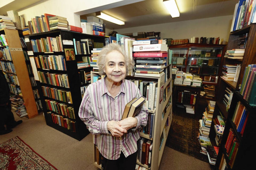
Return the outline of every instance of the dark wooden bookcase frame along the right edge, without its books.
[[[229,35],[227,50],[239,48],[239,44],[241,41],[239,39],[239,37],[246,35],[246,34],[247,34],[247,43],[246,43],[245,53],[244,53],[242,60],[241,59],[229,59],[229,58],[223,59],[222,65],[241,64],[241,70],[240,70],[237,82],[227,81],[227,80],[221,78],[220,85],[219,85],[219,88],[217,91],[218,92],[218,96],[217,96],[218,102],[216,105],[217,107],[215,106],[215,110],[217,109],[217,111],[214,111],[214,116],[216,117],[217,115],[219,115],[218,110],[220,110],[227,121],[226,121],[225,130],[224,130],[224,133],[222,136],[218,159],[217,159],[216,165],[215,165],[216,169],[218,169],[218,167],[219,167],[222,153],[224,154],[224,157],[226,158],[226,160],[228,160],[227,156],[225,156],[226,149],[225,149],[224,145],[226,143],[230,128],[233,128],[235,130],[235,133],[238,136],[238,140],[240,141],[240,146],[239,146],[239,150],[237,152],[237,157],[235,159],[233,169],[243,169],[246,166],[253,167],[253,165],[255,167],[255,164],[253,163],[253,161],[248,161],[251,159],[250,156],[253,155],[253,153],[255,153],[255,149],[252,147],[253,145],[251,143],[251,141],[253,140],[252,139],[253,133],[255,134],[255,127],[253,126],[253,123],[254,123],[253,121],[255,121],[255,108],[251,107],[247,103],[247,101],[243,100],[243,97],[239,94],[239,92],[237,92],[237,90],[239,90],[240,84],[242,83],[245,67],[247,67],[249,64],[256,63],[255,32],[256,32],[256,24],[253,23],[253,24],[247,25],[246,27],[239,29],[237,31],[230,32],[230,35]],[[232,102],[231,102],[228,112],[226,111],[226,106],[222,102],[223,98],[224,98],[226,87],[230,88],[231,91],[234,92],[233,97],[232,97]],[[241,103],[243,103],[245,105],[246,109],[248,109],[250,112],[250,117],[248,119],[249,122],[247,122],[247,124],[246,124],[243,137],[241,136],[241,134],[239,132],[237,132],[234,123],[231,121],[231,118],[234,114],[234,110],[235,110],[235,107],[236,107],[236,104],[238,101],[241,101]],[[211,130],[211,131],[213,131],[213,130]],[[210,137],[212,139],[213,135],[211,133],[212,132],[210,132]],[[228,164],[228,162],[229,161],[227,161],[227,164]],[[231,169],[231,167],[229,165],[228,165],[228,169]]]

